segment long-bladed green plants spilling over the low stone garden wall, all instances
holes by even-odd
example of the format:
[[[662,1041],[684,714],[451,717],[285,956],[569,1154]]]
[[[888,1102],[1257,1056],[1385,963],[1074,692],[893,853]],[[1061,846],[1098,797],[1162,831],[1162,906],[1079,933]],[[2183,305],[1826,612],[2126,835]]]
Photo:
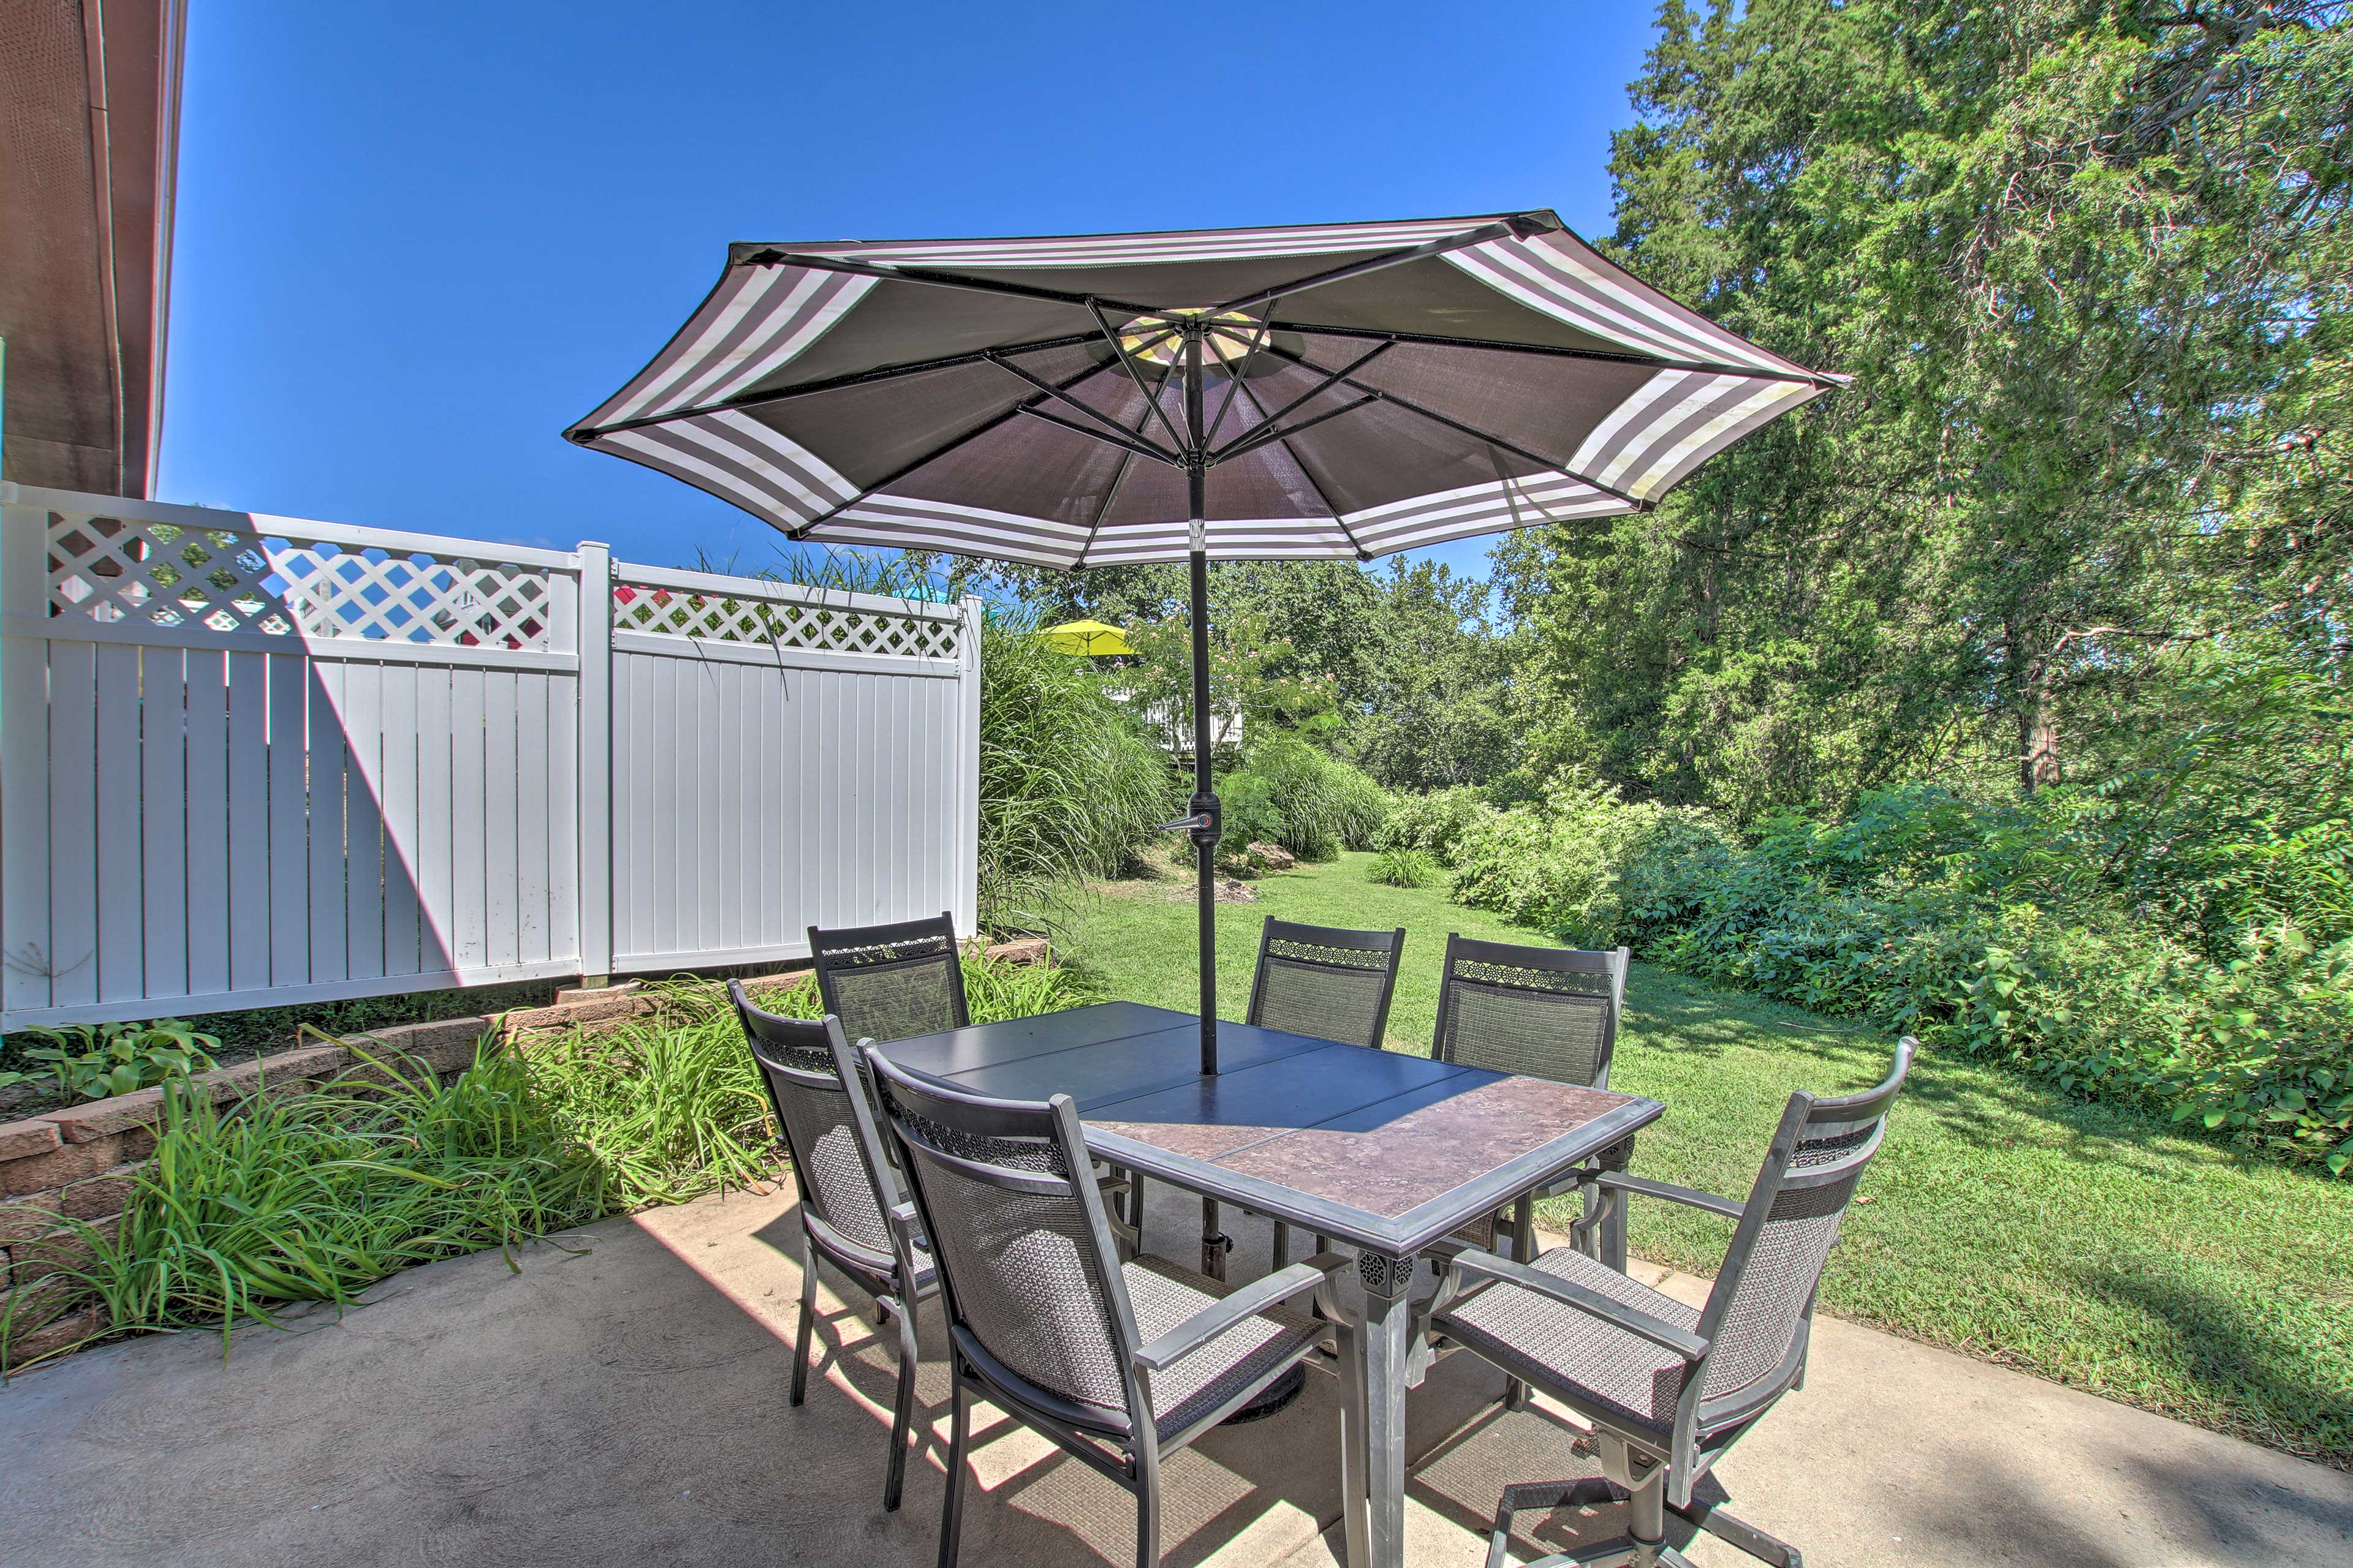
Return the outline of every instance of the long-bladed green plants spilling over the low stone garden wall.
[[[981,1023],[1089,999],[1045,964],[967,959]],[[9,1342],[94,1305],[101,1333],[278,1321],[289,1302],[351,1307],[435,1258],[553,1239],[609,1213],[680,1204],[776,1168],[774,1126],[725,992],[656,985],[656,1011],[485,1051],[440,1081],[360,1060],[313,1093],[219,1107],[179,1079],[155,1154],[115,1227],[56,1218],[52,1267],[19,1258]],[[816,987],[762,987],[816,1018]],[[21,1368],[12,1368],[21,1371]]]

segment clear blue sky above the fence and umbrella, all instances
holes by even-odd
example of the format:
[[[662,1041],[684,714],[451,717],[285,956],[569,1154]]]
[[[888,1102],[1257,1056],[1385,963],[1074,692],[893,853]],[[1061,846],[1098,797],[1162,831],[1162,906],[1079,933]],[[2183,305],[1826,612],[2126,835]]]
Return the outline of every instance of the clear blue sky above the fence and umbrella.
[[[555,435],[729,240],[1513,207],[1600,235],[1649,33],[1558,0],[198,0],[160,496],[755,567],[758,520]]]

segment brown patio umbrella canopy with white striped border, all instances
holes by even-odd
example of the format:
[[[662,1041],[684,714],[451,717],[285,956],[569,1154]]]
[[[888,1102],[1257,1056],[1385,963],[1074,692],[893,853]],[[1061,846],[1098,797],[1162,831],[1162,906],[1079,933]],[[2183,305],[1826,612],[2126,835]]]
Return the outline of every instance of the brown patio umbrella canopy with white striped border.
[[[1184,559],[1191,433],[1158,329],[1198,310],[1217,310],[1207,550],[1226,559],[1640,510],[1835,383],[1522,212],[736,244],[678,336],[565,435],[793,538]]]

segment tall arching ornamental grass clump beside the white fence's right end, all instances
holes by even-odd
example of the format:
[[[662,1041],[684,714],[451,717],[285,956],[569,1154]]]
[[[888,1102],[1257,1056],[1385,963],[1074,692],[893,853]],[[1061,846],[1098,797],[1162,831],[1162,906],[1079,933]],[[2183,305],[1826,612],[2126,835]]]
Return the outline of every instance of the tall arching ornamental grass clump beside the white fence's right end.
[[[1026,618],[981,630],[981,924],[1035,924],[1071,882],[1115,877],[1176,813],[1167,759],[1082,658]]]

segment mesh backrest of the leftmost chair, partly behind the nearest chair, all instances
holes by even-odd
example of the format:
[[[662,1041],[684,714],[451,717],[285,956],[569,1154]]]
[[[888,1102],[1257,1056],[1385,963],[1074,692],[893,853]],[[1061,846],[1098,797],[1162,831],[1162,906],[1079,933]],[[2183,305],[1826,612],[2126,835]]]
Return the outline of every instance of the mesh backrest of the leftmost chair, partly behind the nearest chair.
[[[727,994],[784,1128],[802,1211],[826,1241],[847,1244],[842,1251],[875,1272],[892,1269],[896,1248],[885,1213],[899,1201],[899,1182],[882,1159],[842,1020],[779,1018],[755,1006],[739,980],[727,983]]]

